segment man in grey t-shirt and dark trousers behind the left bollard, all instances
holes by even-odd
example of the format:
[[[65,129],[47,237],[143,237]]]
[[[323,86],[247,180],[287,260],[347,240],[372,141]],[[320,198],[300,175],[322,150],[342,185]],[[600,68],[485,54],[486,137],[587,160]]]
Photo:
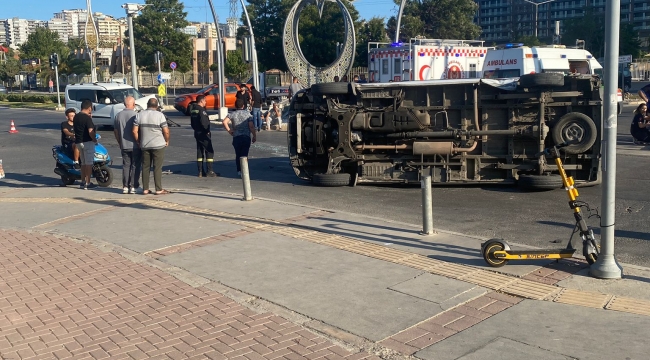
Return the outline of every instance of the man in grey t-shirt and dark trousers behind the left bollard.
[[[241,176],[241,164],[239,158],[248,157],[248,150],[251,148],[251,135],[253,143],[257,140],[255,135],[255,126],[253,117],[244,110],[244,101],[237,99],[235,101],[237,111],[228,114],[223,119],[223,127],[228,134],[232,136],[232,146],[235,148],[235,163],[237,163],[237,175]]]

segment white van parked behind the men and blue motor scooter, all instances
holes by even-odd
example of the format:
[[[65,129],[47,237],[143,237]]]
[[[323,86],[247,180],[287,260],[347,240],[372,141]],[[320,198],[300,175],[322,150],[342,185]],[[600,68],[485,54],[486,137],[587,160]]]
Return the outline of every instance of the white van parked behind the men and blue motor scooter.
[[[142,95],[131,85],[120,83],[72,84],[65,87],[65,107],[81,109],[81,102],[93,102],[93,123],[97,126],[113,126],[115,115],[124,110],[124,99],[135,98],[136,111],[147,108],[147,101],[155,95]]]

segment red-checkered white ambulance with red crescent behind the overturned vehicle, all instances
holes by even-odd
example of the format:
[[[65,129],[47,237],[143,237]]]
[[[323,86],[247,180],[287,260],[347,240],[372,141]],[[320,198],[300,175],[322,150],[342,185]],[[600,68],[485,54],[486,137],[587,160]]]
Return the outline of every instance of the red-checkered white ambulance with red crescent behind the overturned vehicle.
[[[478,40],[411,39],[368,44],[371,83],[410,80],[479,79],[490,47]]]

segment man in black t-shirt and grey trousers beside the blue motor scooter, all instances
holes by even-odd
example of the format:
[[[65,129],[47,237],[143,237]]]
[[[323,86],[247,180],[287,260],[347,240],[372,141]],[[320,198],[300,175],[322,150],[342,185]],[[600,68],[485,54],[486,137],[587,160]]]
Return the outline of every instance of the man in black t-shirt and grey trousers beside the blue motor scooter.
[[[88,190],[95,185],[90,183],[93,161],[95,159],[95,124],[91,117],[93,102],[86,99],[81,102],[81,111],[72,120],[74,128],[74,142],[79,149],[79,160],[81,160],[81,189]]]

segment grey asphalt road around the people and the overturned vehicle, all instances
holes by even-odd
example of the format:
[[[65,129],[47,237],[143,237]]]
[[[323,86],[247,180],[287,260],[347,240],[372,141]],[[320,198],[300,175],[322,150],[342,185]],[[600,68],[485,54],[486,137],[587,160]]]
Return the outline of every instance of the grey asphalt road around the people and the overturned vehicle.
[[[631,143],[628,132],[633,109],[633,106],[625,107],[624,114],[619,117],[616,252],[621,262],[650,266],[650,147]],[[168,115],[182,126],[171,129],[164,170],[172,173],[164,175],[163,186],[241,193],[231,137],[220,126],[214,126],[215,171],[221,173],[221,177],[197,178],[189,117],[175,111]],[[6,132],[9,120],[16,122],[18,134]],[[7,179],[22,186],[52,186],[52,191],[57,191],[60,180],[52,171],[51,148],[60,141],[59,124],[63,120],[63,114],[57,112],[0,108],[0,126],[3,127],[0,129],[0,159]],[[103,137],[101,142],[115,161],[112,168],[117,181],[113,186],[121,188],[121,159],[112,131],[102,129],[99,133]],[[396,222],[421,223],[419,187],[319,188],[298,179],[288,163],[285,132],[259,134],[258,142],[251,148],[250,170],[254,196]],[[601,186],[581,189],[580,200],[600,208],[602,190]],[[434,188],[433,199],[434,226],[448,231],[500,237],[548,248],[564,246],[573,229],[573,215],[566,193],[561,190],[524,193],[514,187],[443,186]],[[597,227],[599,222],[592,218],[590,224]],[[435,236],[422,240],[435,242]]]

